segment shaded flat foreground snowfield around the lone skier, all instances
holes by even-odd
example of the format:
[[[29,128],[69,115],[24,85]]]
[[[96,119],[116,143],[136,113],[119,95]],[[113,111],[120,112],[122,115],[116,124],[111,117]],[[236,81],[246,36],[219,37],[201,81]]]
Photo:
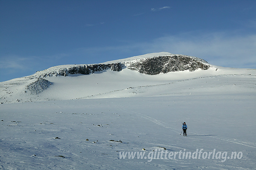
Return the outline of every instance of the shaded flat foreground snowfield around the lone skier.
[[[230,93],[2,105],[0,167],[254,169],[255,97],[255,93]],[[188,125],[187,137],[180,135],[183,121]],[[122,143],[115,142],[119,140]],[[145,152],[148,156],[159,147],[169,152],[186,149],[192,153],[196,149],[216,149],[227,152],[227,156],[235,151],[242,152],[242,158],[225,162],[202,157],[151,162],[148,157],[120,159],[122,152]],[[141,151],[143,148],[145,151]]]

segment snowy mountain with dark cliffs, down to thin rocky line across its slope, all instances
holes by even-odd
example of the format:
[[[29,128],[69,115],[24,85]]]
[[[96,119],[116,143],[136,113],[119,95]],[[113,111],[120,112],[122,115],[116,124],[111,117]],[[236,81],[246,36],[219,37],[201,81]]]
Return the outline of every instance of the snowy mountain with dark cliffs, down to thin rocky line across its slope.
[[[122,93],[130,87],[154,86],[168,84],[173,80],[222,74],[255,75],[255,70],[223,68],[193,56],[150,53],[100,64],[59,65],[37,71],[30,76],[1,82],[0,102],[78,99],[90,96],[108,98],[114,97],[111,92],[118,90]],[[133,94],[125,92],[121,96],[131,97]]]

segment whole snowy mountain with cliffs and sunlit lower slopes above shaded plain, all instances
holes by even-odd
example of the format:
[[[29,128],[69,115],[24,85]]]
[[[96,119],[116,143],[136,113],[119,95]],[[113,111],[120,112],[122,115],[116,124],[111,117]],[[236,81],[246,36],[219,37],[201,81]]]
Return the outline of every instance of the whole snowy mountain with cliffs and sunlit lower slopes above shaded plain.
[[[58,65],[0,82],[0,103],[190,95],[202,91],[208,81],[212,83],[207,83],[206,93],[213,87],[247,88],[248,82],[253,90],[255,75],[256,69],[225,68],[193,56],[150,53],[99,64]],[[200,86],[192,83],[194,78],[202,80]],[[233,87],[237,80],[244,83]],[[187,84],[189,90],[184,91]]]

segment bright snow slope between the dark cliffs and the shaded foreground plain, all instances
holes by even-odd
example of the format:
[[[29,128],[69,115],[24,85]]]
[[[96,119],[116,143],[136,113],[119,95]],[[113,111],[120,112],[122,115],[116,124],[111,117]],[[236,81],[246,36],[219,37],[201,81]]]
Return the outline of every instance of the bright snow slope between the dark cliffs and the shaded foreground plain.
[[[251,74],[251,75],[249,75]],[[184,81],[183,84],[186,86],[190,84],[190,90],[186,93],[192,93],[196,89],[212,91],[211,85],[208,79],[218,80],[215,81],[217,87],[223,87],[224,85],[229,85],[235,90],[239,91],[239,88],[244,88],[244,86],[234,86],[236,81],[232,80],[232,77],[236,77],[242,84],[246,85],[248,80],[254,79],[256,71],[254,69],[235,69],[235,68],[220,68],[216,67],[209,68],[208,70],[198,69],[196,71],[177,71],[169,72],[166,74],[158,75],[147,75],[141,74],[138,71],[133,71],[128,68],[124,68],[122,71],[111,71],[106,70],[105,72],[97,72],[95,74],[82,75],[73,74],[67,77],[64,76],[51,76],[44,77],[43,80],[45,84],[38,87],[38,89],[30,92],[28,85],[30,83],[36,82],[37,78],[22,77],[14,80],[9,80],[0,83],[1,88],[1,99],[2,103],[13,103],[13,102],[35,102],[42,100],[59,100],[59,99],[80,99],[80,98],[112,98],[115,97],[134,97],[133,90],[144,90],[146,88],[147,93],[143,96],[156,96],[156,95],[172,95],[175,93],[183,93],[179,89],[180,81]],[[235,79],[236,79],[235,78]],[[203,83],[203,88],[200,88],[197,84],[198,79]],[[229,82],[230,79],[230,82]],[[225,83],[227,82],[227,83]],[[49,85],[50,84],[50,85]],[[157,86],[161,85],[161,86]],[[255,87],[254,84],[248,84],[249,87]],[[143,89],[142,89],[143,86]],[[155,90],[150,90],[157,86]],[[44,88],[48,87],[48,88]],[[127,90],[132,87],[132,89]],[[177,87],[175,89],[169,90],[169,88]],[[216,88],[217,88],[216,87]],[[216,88],[213,91],[216,91]],[[225,87],[226,90],[232,90],[232,88]],[[118,92],[114,92],[118,90]],[[166,92],[167,90],[167,92]],[[251,90],[254,90],[253,88]],[[129,94],[128,94],[129,91]],[[39,93],[40,92],[40,93]],[[136,91],[135,91],[136,92]],[[137,91],[139,92],[139,91]],[[117,93],[123,93],[118,95]],[[214,92],[215,93],[215,92]],[[138,95],[138,93],[136,93]],[[113,96],[114,95],[114,96]],[[139,95],[141,96],[141,95]]]

